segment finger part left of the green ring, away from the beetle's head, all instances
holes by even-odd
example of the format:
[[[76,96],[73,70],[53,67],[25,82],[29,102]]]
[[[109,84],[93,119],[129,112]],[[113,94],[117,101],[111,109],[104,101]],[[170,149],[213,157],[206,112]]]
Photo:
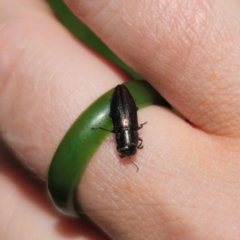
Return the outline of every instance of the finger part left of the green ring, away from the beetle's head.
[[[44,1],[1,6],[1,136],[25,166],[46,179],[72,122],[126,76],[79,43]]]

